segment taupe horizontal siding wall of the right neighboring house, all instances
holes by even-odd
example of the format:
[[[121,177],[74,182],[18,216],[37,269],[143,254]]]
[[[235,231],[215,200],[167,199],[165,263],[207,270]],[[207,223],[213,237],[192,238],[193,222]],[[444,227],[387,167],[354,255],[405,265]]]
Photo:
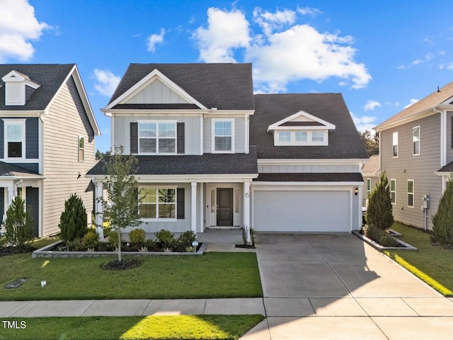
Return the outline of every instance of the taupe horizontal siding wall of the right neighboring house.
[[[413,128],[420,126],[420,154],[413,155]],[[398,132],[398,157],[393,157],[393,132]],[[421,210],[423,195],[430,194],[428,229],[432,229],[431,216],[437,211],[442,196],[440,169],[440,114],[399,125],[381,132],[381,167],[389,183],[396,180],[394,219],[415,227],[424,227],[425,212]],[[414,181],[413,208],[408,207],[408,180]]]

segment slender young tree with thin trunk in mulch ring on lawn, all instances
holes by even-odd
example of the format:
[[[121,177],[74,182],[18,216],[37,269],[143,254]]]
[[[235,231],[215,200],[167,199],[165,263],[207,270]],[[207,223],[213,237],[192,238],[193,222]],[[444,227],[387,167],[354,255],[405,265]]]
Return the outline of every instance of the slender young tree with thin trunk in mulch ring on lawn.
[[[118,261],[121,261],[121,230],[125,227],[137,227],[142,223],[138,213],[139,186],[134,174],[137,173],[137,157],[125,155],[122,146],[110,150],[110,155],[102,162],[107,173],[108,200],[103,203],[104,217],[110,219],[110,226],[117,231]]]

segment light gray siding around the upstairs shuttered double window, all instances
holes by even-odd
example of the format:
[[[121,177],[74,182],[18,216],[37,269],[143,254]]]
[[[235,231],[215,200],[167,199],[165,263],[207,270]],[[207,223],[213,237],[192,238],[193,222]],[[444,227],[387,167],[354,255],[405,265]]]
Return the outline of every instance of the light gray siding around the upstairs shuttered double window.
[[[151,116],[151,115],[127,115],[115,116],[113,122],[113,144],[125,148],[125,154],[130,154],[130,123],[138,120],[176,120],[184,123],[185,154],[201,154],[200,119],[197,116]]]

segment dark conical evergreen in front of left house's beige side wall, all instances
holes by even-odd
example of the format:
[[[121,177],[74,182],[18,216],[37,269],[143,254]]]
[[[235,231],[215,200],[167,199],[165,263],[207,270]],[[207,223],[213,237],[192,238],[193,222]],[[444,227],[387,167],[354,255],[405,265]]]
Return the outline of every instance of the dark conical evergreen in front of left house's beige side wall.
[[[64,202],[58,227],[65,242],[81,239],[88,231],[84,201],[75,193]]]

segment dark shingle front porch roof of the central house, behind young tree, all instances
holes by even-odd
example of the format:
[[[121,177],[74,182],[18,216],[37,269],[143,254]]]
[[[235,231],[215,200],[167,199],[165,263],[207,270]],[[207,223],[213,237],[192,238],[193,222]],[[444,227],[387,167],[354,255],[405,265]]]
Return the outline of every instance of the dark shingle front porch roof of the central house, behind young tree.
[[[180,156],[137,156],[137,175],[258,174],[256,148],[248,154],[202,154]],[[104,175],[98,162],[87,175]]]

